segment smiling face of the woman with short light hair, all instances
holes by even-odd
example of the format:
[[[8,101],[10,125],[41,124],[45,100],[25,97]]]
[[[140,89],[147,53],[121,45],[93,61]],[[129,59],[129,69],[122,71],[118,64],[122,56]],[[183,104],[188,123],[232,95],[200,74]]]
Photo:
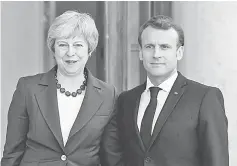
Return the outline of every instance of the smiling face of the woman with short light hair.
[[[75,76],[83,73],[89,58],[89,47],[83,36],[58,38],[54,47],[54,57],[61,74]]]

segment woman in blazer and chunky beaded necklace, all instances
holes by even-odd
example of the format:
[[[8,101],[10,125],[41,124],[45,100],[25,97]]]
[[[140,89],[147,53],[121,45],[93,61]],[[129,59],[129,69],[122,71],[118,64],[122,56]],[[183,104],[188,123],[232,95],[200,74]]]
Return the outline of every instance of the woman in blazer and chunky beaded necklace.
[[[85,67],[98,36],[88,14],[54,20],[47,43],[57,65],[18,81],[2,166],[120,165],[115,88]]]

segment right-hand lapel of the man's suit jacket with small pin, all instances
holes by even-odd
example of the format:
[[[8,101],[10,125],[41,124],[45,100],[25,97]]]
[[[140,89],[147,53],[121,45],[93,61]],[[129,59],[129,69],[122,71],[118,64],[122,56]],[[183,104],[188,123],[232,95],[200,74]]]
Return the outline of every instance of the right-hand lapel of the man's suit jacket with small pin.
[[[179,99],[184,93],[185,85],[186,85],[186,78],[181,75],[181,73],[178,72],[178,77],[176,81],[174,82],[174,85],[166,99],[166,102],[160,112],[160,115],[156,121],[155,128],[152,134],[151,142],[149,145],[149,148],[154,143],[156,137],[160,133],[162,127],[164,126],[165,122],[167,121],[170,114],[173,112],[176,104],[178,103]],[[148,148],[148,149],[149,149]]]

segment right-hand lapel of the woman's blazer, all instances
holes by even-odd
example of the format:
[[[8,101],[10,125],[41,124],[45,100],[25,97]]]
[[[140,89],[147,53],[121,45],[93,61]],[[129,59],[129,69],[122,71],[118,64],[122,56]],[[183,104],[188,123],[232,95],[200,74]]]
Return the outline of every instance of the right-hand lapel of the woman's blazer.
[[[101,96],[101,91],[102,91],[101,86],[98,84],[97,80],[92,76],[92,74],[88,71],[88,82],[87,82],[86,93],[80,111],[70,131],[66,146],[70,142],[70,139],[73,137],[73,135],[75,135],[78,131],[80,131],[100,108],[101,104],[103,103],[103,97]]]

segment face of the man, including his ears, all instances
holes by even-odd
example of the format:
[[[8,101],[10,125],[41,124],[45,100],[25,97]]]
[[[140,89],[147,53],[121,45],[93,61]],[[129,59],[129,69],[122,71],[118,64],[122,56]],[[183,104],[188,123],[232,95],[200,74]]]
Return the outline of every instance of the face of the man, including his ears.
[[[177,48],[178,34],[168,30],[147,27],[141,35],[140,60],[143,61],[148,77],[168,78],[182,59],[183,47]]]

